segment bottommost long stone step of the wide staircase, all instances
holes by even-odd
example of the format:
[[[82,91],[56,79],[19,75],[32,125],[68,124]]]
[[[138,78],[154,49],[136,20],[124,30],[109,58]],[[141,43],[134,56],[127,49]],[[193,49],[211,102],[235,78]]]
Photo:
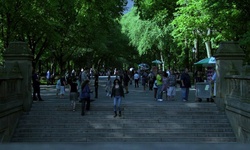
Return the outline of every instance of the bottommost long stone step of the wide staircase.
[[[19,137],[12,142],[84,143],[84,142],[168,142],[168,143],[235,143],[234,137]]]

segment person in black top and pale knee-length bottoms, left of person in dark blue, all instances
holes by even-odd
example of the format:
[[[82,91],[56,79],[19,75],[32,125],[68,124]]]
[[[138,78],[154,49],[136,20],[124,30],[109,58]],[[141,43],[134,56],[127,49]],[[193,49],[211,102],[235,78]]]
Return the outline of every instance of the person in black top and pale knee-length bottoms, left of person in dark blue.
[[[72,111],[75,111],[76,108],[76,101],[78,99],[78,94],[77,94],[77,83],[76,83],[76,78],[74,77],[72,79],[72,82],[70,82],[69,84],[69,100],[71,101],[71,107],[72,107]]]

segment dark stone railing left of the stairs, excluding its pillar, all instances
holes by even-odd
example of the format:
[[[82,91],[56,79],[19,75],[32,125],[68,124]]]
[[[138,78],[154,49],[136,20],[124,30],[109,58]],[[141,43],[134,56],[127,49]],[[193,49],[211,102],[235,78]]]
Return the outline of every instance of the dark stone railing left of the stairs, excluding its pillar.
[[[9,70],[8,70],[9,69]],[[22,80],[18,63],[0,68],[0,138],[8,141],[23,111]]]

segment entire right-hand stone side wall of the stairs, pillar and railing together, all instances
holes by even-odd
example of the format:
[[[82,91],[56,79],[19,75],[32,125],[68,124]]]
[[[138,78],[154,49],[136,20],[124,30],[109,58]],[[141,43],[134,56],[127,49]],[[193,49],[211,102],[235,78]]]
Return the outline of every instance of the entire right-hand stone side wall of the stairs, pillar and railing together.
[[[238,142],[250,143],[250,69],[243,67],[244,56],[237,42],[221,43],[215,55],[215,102],[226,112]]]

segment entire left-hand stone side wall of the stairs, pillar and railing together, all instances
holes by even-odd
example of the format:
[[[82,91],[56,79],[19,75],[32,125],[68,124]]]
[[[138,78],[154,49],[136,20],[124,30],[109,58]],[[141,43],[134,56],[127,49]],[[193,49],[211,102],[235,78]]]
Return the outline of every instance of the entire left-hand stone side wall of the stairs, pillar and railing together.
[[[10,43],[0,68],[0,142],[8,142],[23,112],[30,110],[32,55],[23,42]]]

